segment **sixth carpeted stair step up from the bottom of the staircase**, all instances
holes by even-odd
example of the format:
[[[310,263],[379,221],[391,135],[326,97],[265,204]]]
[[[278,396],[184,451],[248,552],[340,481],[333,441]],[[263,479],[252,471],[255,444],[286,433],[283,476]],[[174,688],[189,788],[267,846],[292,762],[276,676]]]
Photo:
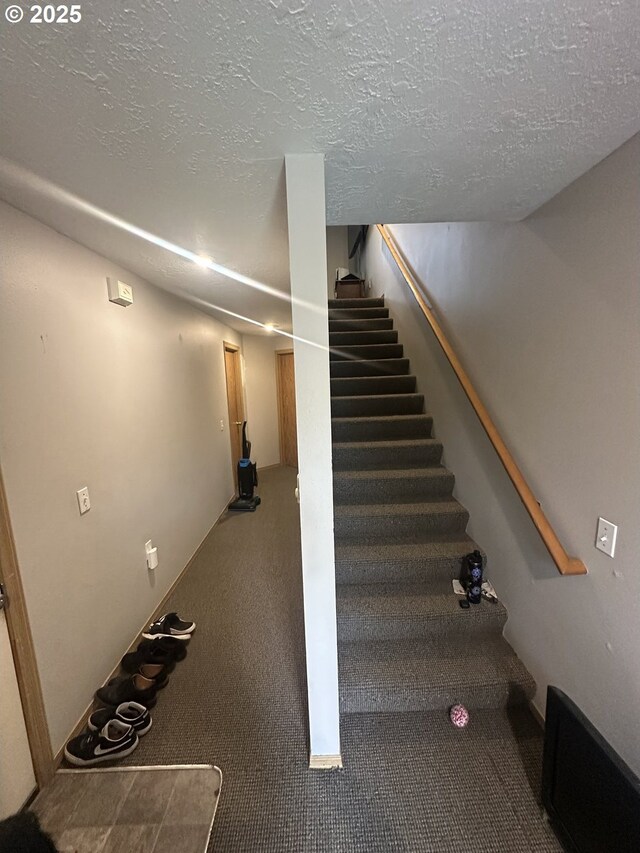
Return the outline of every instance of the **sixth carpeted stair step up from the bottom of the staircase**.
[[[436,438],[397,441],[340,441],[333,444],[334,471],[413,468],[439,465],[442,443]]]

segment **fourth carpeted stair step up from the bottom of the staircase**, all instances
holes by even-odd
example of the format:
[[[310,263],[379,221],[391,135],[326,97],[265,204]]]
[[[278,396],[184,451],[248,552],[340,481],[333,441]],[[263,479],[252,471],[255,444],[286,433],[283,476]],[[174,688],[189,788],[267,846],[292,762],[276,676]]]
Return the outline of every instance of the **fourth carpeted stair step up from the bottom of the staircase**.
[[[434,533],[464,533],[468,521],[456,500],[334,506],[334,531],[343,542],[425,542]]]

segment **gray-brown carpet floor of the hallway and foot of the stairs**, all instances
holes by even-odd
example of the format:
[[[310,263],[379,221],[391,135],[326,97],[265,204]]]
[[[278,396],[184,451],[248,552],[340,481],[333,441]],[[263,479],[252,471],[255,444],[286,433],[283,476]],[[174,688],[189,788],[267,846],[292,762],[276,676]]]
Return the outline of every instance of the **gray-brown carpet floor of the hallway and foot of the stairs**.
[[[295,472],[264,472],[255,514],[215,527],[169,609],[198,623],[125,763],[223,772],[210,850],[560,851],[538,802],[542,735],[525,708],[354,714],[344,770],[309,771]]]

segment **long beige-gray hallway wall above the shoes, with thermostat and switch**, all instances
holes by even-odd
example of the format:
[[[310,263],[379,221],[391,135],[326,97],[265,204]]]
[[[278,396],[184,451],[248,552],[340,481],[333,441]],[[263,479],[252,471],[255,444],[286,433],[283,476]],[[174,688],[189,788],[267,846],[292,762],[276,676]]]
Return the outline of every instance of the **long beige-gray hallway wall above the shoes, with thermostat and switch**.
[[[232,495],[240,339],[5,204],[0,233],[0,461],[55,750]]]

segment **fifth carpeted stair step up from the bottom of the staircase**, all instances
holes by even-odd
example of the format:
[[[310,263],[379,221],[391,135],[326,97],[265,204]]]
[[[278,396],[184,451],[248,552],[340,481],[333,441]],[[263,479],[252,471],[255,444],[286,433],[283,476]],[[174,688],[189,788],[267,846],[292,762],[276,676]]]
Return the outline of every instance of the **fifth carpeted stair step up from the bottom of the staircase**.
[[[454,476],[446,468],[382,471],[335,471],[336,504],[390,504],[451,497]]]

